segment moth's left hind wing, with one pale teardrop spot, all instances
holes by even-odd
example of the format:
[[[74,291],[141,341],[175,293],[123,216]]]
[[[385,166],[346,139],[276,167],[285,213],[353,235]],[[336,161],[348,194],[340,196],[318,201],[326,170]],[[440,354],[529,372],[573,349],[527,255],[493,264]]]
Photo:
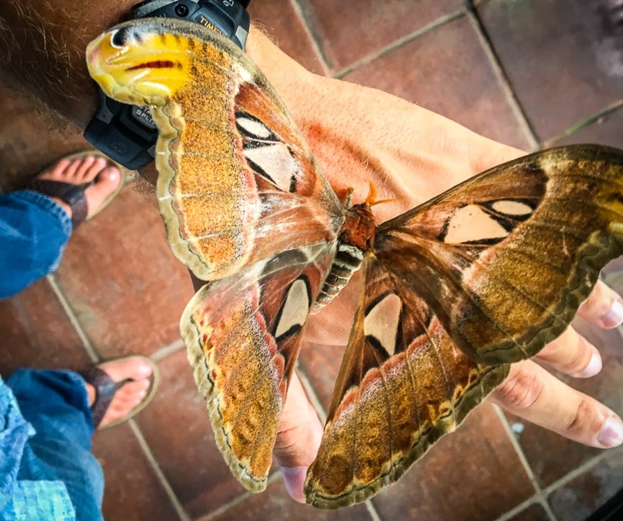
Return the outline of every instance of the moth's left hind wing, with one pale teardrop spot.
[[[250,491],[264,490],[300,346],[332,251],[288,251],[205,285],[181,331],[219,450]]]

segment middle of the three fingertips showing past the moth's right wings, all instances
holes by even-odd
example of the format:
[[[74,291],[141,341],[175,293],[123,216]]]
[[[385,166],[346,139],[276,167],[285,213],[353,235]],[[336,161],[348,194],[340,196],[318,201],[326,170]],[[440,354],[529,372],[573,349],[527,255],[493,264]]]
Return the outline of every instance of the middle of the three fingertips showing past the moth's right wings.
[[[595,376],[602,370],[602,355],[571,326],[541,349],[535,358],[575,378]]]

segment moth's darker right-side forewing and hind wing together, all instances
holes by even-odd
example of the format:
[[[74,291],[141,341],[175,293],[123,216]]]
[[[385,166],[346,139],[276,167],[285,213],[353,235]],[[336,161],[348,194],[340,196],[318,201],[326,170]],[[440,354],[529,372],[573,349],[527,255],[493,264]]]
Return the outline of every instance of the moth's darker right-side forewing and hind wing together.
[[[623,151],[532,154],[377,228],[307,501],[395,482],[575,315],[623,252]]]

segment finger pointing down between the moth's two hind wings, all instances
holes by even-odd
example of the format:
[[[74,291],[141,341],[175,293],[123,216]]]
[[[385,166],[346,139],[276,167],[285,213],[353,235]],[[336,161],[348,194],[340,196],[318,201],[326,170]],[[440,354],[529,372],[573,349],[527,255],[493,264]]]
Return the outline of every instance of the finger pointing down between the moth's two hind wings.
[[[323,426],[318,414],[309,403],[298,376],[293,373],[273,456],[281,468],[289,495],[300,503],[305,503],[303,484],[307,467],[316,458],[322,436]]]

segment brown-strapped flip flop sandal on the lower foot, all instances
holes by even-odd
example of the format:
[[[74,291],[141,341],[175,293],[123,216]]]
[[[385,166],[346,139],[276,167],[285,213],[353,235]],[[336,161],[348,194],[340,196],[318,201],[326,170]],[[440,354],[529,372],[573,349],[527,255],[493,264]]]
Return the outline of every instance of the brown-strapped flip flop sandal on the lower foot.
[[[152,398],[154,398],[154,394],[156,394],[156,389],[158,388],[158,385],[160,383],[160,373],[158,366],[156,366],[156,364],[154,364],[154,362],[152,362],[149,358],[140,355],[132,355],[114,358],[112,360],[106,360],[106,362],[122,362],[125,360],[131,360],[132,358],[140,358],[141,360],[147,362],[147,364],[150,364],[150,366],[152,367],[152,375],[150,376],[150,388],[147,391],[147,394],[145,395],[143,400],[141,400],[141,403],[136,405],[136,407],[130,409],[127,414],[125,414],[125,416],[117,418],[116,420],[102,426],[100,426],[100,423],[102,423],[102,418],[104,418],[108,407],[110,407],[116,391],[118,391],[128,382],[134,382],[134,380],[132,378],[126,378],[125,380],[121,380],[120,382],[114,382],[112,378],[110,378],[110,376],[105,373],[105,371],[102,371],[102,369],[98,367],[98,365],[100,364],[88,367],[87,369],[84,369],[84,371],[78,371],[78,374],[82,376],[82,378],[84,378],[84,381],[91,384],[96,391],[95,401],[93,401],[93,405],[91,405],[93,426],[96,428],[96,430],[108,429],[109,427],[114,427],[119,423],[123,423],[124,421],[129,420],[129,418],[132,418],[132,416],[138,414],[143,409],[145,409],[145,407],[147,407],[147,405],[152,401]]]

